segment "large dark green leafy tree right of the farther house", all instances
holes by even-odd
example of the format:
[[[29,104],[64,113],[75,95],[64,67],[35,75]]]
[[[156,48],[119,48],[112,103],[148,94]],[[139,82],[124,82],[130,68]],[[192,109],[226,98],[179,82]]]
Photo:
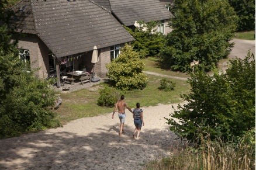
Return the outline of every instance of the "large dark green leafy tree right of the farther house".
[[[173,30],[159,54],[162,67],[185,72],[189,63],[200,60],[210,70],[233,47],[229,42],[236,30],[233,8],[226,0],[174,2],[175,18],[169,25]]]

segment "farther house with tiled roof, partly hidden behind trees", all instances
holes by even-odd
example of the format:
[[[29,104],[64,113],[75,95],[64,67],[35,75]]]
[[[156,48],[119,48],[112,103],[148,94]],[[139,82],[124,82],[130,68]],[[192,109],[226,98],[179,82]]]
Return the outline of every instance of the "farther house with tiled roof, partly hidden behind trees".
[[[172,0],[92,0],[99,6],[103,6],[119,22],[127,27],[133,28],[138,26],[137,21],[143,20],[150,22],[151,20],[160,22],[157,26],[158,32],[167,34],[171,32],[168,22],[174,17],[166,8],[165,4],[171,4]],[[168,7],[168,6],[167,6]]]

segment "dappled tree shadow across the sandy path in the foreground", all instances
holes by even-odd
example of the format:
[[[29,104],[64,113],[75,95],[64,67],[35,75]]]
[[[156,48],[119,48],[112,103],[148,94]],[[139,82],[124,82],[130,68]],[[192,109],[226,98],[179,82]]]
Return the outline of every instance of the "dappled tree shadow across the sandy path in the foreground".
[[[138,140],[119,124],[79,136],[67,131],[40,131],[0,141],[0,169],[141,169],[143,162],[165,155],[175,135],[166,130],[143,130]],[[86,130],[86,129],[85,129]]]

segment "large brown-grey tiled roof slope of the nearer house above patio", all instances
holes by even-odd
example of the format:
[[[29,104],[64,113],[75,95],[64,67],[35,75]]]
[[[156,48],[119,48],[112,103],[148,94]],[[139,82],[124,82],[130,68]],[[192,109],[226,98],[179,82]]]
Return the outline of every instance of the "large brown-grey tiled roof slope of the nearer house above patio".
[[[20,4],[28,2],[30,6],[25,9],[32,9],[36,34],[56,57],[91,51],[94,46],[103,48],[134,40],[109,12],[94,2],[22,0],[16,6],[19,8]]]

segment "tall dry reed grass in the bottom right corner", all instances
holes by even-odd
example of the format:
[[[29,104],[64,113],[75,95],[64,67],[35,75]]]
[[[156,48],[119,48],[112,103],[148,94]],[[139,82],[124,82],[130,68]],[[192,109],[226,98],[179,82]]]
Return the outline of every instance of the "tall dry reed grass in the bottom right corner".
[[[173,145],[170,157],[148,162],[144,169],[255,169],[255,129],[251,132],[238,143],[201,135],[200,145]]]

